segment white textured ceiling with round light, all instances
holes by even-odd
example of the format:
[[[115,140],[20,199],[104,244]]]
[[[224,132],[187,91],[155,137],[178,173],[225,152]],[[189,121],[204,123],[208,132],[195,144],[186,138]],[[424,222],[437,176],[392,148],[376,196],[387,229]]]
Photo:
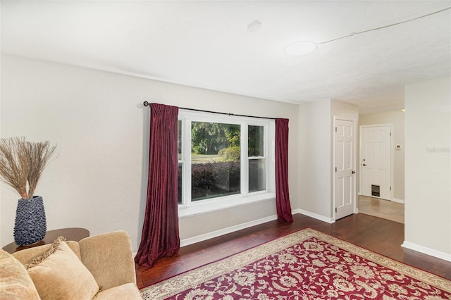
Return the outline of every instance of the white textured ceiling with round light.
[[[1,51],[276,101],[404,106],[451,75],[451,1],[1,1]],[[261,29],[248,32],[259,20]],[[291,42],[318,49],[288,56]],[[212,99],[214,101],[214,99]]]

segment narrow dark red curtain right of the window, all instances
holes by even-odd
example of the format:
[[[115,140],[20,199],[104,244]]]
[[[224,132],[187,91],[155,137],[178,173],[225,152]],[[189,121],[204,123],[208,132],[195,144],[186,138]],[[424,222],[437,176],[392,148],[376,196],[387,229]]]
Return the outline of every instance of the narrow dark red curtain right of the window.
[[[288,119],[276,119],[276,207],[279,221],[293,221],[288,190]]]

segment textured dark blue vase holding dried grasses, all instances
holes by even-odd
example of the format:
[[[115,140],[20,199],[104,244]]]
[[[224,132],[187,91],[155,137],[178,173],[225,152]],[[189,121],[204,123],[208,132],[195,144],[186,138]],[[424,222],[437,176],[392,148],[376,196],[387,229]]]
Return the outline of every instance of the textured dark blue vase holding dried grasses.
[[[19,199],[14,223],[14,242],[18,246],[33,244],[44,239],[47,232],[42,196]]]

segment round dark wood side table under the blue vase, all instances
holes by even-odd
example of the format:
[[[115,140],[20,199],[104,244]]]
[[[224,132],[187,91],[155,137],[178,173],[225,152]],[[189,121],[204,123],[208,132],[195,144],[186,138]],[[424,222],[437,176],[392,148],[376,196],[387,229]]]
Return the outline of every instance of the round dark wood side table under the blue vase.
[[[68,241],[79,242],[80,239],[89,237],[89,230],[85,228],[62,228],[56,230],[49,230],[46,232],[44,239],[42,241],[30,244],[27,246],[18,246],[15,242],[7,244],[3,247],[4,251],[13,254],[14,252],[28,249],[36,246],[48,245],[54,242],[57,237],[66,237]]]

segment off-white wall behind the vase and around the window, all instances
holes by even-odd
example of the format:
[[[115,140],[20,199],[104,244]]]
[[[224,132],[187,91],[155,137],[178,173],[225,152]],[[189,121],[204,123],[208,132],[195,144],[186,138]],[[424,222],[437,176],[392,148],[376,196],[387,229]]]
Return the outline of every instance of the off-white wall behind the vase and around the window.
[[[1,56],[1,137],[57,144],[36,194],[47,229],[126,230],[134,250],[147,189],[149,108],[143,101],[290,119],[289,177],[297,208],[297,105],[173,85],[85,68]],[[19,196],[1,184],[0,244],[13,242]],[[180,220],[180,238],[276,215],[274,200]]]

